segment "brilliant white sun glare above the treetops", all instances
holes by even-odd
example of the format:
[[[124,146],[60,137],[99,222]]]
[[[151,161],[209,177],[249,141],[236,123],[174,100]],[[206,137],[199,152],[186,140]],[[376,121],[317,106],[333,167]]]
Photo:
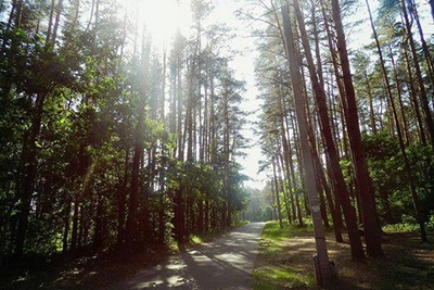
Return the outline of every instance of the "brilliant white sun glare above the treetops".
[[[128,17],[145,27],[154,43],[169,42],[178,29],[186,34],[191,23],[190,1],[118,0]]]

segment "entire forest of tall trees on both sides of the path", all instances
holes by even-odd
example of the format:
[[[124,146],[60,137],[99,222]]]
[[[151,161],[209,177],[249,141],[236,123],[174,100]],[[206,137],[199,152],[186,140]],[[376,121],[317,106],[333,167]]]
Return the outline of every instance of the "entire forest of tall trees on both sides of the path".
[[[0,1],[2,266],[187,242],[242,219],[311,224],[316,203],[314,224],[348,237],[353,261],[384,255],[384,228],[427,241],[426,1],[232,1],[257,51],[257,143],[238,28],[212,18],[216,1],[165,1],[191,21],[163,41],[135,11],[146,1],[126,2]],[[251,147],[264,188],[245,186]]]

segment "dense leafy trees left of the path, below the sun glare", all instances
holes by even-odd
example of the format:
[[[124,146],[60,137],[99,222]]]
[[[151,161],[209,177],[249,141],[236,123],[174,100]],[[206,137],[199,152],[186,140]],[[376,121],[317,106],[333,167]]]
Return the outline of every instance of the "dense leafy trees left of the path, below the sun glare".
[[[244,84],[200,24],[209,9],[193,2],[196,33],[162,50],[116,1],[2,2],[1,256],[233,223]]]

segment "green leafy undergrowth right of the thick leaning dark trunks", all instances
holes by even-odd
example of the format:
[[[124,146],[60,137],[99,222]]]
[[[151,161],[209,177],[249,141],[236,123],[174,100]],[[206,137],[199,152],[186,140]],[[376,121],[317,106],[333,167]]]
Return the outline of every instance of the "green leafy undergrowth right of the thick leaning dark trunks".
[[[414,217],[414,209],[408,188],[408,173],[397,140],[386,131],[363,136],[368,166],[379,201],[380,215],[384,224],[406,224],[406,215]],[[420,199],[425,222],[433,211],[433,162],[431,146],[410,146],[406,149],[410,163],[410,176]]]

